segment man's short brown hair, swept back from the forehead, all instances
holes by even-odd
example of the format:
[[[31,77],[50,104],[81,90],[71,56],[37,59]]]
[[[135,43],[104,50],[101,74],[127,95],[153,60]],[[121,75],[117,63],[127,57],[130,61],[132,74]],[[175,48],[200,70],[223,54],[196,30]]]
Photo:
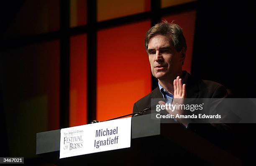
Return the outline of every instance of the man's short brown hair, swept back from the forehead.
[[[156,36],[156,35],[163,35],[166,37],[169,37],[171,40],[172,45],[177,50],[177,52],[180,52],[182,48],[185,48],[185,52],[187,51],[187,44],[186,39],[183,35],[182,28],[173,23],[167,22],[166,20],[154,25],[154,27],[151,27],[148,32],[146,33],[145,37],[145,48],[148,52],[148,42],[149,40]]]

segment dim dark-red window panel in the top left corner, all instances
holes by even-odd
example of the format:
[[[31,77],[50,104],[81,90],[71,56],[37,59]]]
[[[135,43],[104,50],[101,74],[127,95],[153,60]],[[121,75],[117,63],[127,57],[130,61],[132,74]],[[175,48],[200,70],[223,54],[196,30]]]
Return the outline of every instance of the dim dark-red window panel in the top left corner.
[[[57,31],[60,28],[60,0],[25,0],[6,30],[19,37]],[[18,27],[18,28],[17,28]]]

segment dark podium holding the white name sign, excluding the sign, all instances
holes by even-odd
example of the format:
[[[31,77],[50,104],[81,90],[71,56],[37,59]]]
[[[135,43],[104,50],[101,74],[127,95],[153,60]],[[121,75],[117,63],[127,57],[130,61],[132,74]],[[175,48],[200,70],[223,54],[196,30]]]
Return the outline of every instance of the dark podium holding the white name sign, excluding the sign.
[[[132,117],[131,147],[59,159],[60,130],[36,134],[36,154],[56,165],[242,165],[232,154],[181,124],[151,114]]]

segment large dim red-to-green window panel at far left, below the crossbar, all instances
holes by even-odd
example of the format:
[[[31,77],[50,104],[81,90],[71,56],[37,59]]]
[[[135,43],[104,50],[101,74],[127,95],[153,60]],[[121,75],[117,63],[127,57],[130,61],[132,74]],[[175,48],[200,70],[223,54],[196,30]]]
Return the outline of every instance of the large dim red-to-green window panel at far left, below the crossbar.
[[[5,50],[0,57],[11,156],[35,156],[36,133],[59,129],[59,49],[54,40]]]

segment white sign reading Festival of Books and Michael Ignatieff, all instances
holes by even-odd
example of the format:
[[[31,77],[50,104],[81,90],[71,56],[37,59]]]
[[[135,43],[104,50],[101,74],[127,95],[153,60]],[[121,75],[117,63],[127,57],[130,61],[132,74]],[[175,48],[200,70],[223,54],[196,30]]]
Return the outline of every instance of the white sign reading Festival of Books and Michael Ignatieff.
[[[59,158],[131,147],[131,117],[61,129]]]

